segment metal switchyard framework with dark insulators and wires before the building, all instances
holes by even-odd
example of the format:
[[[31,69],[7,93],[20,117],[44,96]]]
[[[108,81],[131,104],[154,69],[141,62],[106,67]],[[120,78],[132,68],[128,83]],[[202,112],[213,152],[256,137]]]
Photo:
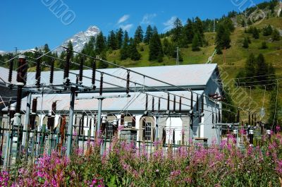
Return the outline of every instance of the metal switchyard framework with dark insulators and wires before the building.
[[[61,46],[60,46],[61,47]],[[55,49],[58,49],[59,47],[56,47]],[[116,64],[113,64],[109,61],[104,61],[103,59],[101,59],[99,56],[93,57],[93,56],[87,56],[85,54],[79,53],[79,52],[74,52],[71,51],[70,49],[63,47],[64,49],[66,49],[66,59],[64,60],[64,68],[56,68],[54,66],[54,61],[57,58],[54,58],[54,56],[49,55],[51,52],[53,52],[55,49],[51,50],[50,52],[47,52],[45,54],[40,54],[39,52],[35,52],[35,54],[37,55],[37,58],[32,58],[32,57],[28,57],[28,56],[23,56],[23,54],[19,54],[16,57],[11,58],[10,61],[10,67],[9,67],[9,75],[8,75],[8,83],[6,84],[6,86],[8,88],[10,88],[11,90],[17,90],[18,92],[18,97],[17,97],[17,102],[16,102],[16,106],[14,106],[13,104],[9,103],[8,105],[8,121],[9,123],[13,123],[13,126],[17,126],[18,127],[18,135],[20,133],[20,126],[21,126],[21,121],[20,121],[20,109],[21,109],[21,96],[23,91],[27,92],[27,106],[26,106],[26,114],[25,114],[25,123],[23,125],[23,137],[22,137],[22,143],[21,143],[21,147],[20,147],[20,141],[19,138],[17,140],[17,149],[20,152],[20,150],[23,150],[24,148],[26,148],[28,145],[28,140],[29,140],[29,133],[28,132],[33,132],[33,133],[37,133],[38,131],[38,126],[35,126],[35,116],[36,116],[36,111],[37,111],[37,99],[33,99],[32,100],[32,95],[33,94],[40,94],[40,95],[45,95],[45,94],[55,94],[55,93],[66,93],[66,94],[70,94],[71,95],[71,101],[70,101],[70,110],[68,113],[69,116],[69,121],[68,121],[68,133],[67,133],[67,147],[66,147],[66,155],[70,156],[71,155],[71,146],[72,146],[72,138],[73,138],[73,123],[74,123],[74,107],[75,107],[75,99],[98,99],[99,101],[99,106],[97,109],[97,128],[96,131],[99,132],[100,130],[100,126],[102,124],[102,101],[104,99],[107,98],[120,98],[120,97],[130,97],[130,92],[132,91],[136,91],[136,88],[130,88],[130,83],[134,84],[135,86],[139,86],[140,89],[137,89],[137,92],[140,92],[140,94],[145,94],[146,95],[146,103],[145,103],[145,114],[152,114],[154,116],[157,116],[157,119],[159,118],[159,116],[189,116],[191,121],[193,121],[196,118],[199,118],[199,120],[201,119],[201,116],[204,114],[204,111],[207,110],[205,109],[204,106],[209,106],[208,104],[204,103],[204,97],[207,97],[208,99],[212,99],[216,102],[222,102],[220,99],[221,97],[218,97],[217,95],[198,95],[196,92],[193,92],[190,88],[182,88],[180,86],[177,85],[172,85],[171,83],[166,83],[163,80],[159,80],[157,78],[153,78],[147,75],[144,75],[142,73],[138,73],[137,71],[133,71],[130,70],[128,68],[124,68],[123,66],[118,66]],[[81,56],[80,58],[80,63],[75,63],[73,61],[71,61],[71,53],[77,53]],[[50,58],[50,61],[47,63],[45,61],[42,61],[42,57],[43,56],[47,56]],[[17,68],[17,78],[16,78],[16,84],[12,83],[12,76],[13,76],[13,60],[16,59],[18,57],[18,68]],[[88,57],[90,59],[92,59],[92,66],[88,67],[85,66],[85,57]],[[62,59],[58,59],[60,61],[62,61]],[[127,71],[127,76],[126,78],[121,78],[118,76],[114,76],[111,75],[109,73],[105,73],[102,71],[97,70],[96,68],[96,62],[97,61],[102,61],[104,63],[108,63],[114,66],[117,66],[119,68],[123,68],[125,71]],[[36,83],[35,85],[26,85],[27,83],[27,62],[29,63],[35,63],[36,64]],[[73,73],[70,71],[70,66],[71,64],[74,64],[76,66],[79,66],[80,71],[79,73]],[[49,85],[44,85],[40,82],[40,77],[41,77],[41,66],[46,66],[50,68],[50,79],[49,79]],[[85,75],[83,75],[83,69],[84,68],[88,68],[92,70],[92,77],[87,77]],[[63,83],[61,84],[54,84],[54,70],[63,70]],[[100,73],[100,78],[99,80],[97,80],[96,78],[96,74]],[[161,88],[154,88],[152,86],[148,86],[145,84],[141,84],[141,83],[137,83],[136,81],[130,80],[130,73],[136,73],[137,75],[143,76],[144,78],[148,78],[148,79],[152,79],[154,81],[158,81],[160,83],[164,83],[166,85],[169,85],[173,88],[178,88],[180,90],[185,90],[188,92],[191,92],[191,97],[185,97],[185,96],[181,96],[181,95],[176,95],[175,93],[172,92],[168,92],[167,90],[162,90]],[[70,80],[70,74],[74,74],[76,76],[76,81],[75,83],[71,82]],[[112,76],[116,79],[122,80],[125,82],[125,86],[122,87],[120,85],[115,85],[114,83],[109,83],[104,81],[104,76]],[[83,78],[88,78],[92,80],[92,86],[87,86],[87,85],[83,85]],[[99,81],[99,86],[97,86],[97,81]],[[116,88],[124,88],[125,90],[125,94],[124,95],[103,95],[104,92],[107,92],[106,89],[103,89],[103,85],[104,84],[109,84],[112,85]],[[98,89],[99,88],[99,89]],[[146,92],[144,90],[144,88],[146,88],[147,90],[156,90],[156,91],[160,91],[160,92],[164,92],[167,94],[167,97],[159,97],[157,95],[152,95],[149,94],[148,92]],[[78,95],[80,95],[80,93],[99,93],[99,96],[97,97],[79,97]],[[152,109],[148,109],[148,97],[152,97]],[[179,98],[178,101],[176,100],[176,98]],[[157,101],[155,101],[155,99]],[[161,111],[160,110],[160,102],[161,99],[164,99],[167,101],[167,111]],[[190,104],[185,104],[185,102],[183,101],[185,99],[185,102],[187,103],[187,101],[190,101]],[[155,102],[158,103],[158,108],[155,109]],[[169,103],[173,102],[173,111],[170,111],[170,106]],[[196,107],[194,107],[193,102],[196,102]],[[179,104],[179,108],[176,109],[176,103]],[[222,102],[224,103],[224,102]],[[226,104],[226,103],[224,103]],[[240,121],[240,110],[242,111],[246,111],[246,109],[243,108],[239,108],[236,106],[233,106],[231,104],[227,104],[230,105],[231,107],[235,107],[236,109],[238,109],[238,113],[236,113],[237,115],[237,122]],[[182,108],[182,106],[187,106],[190,107],[190,109],[186,109],[184,110]],[[248,111],[248,110],[247,110]],[[232,111],[228,111],[228,112],[232,112]],[[249,111],[250,113],[250,111]],[[54,130],[54,116],[56,114],[56,102],[53,102],[51,110],[49,111],[48,114],[48,122],[47,122],[47,128],[50,130],[50,135],[53,133]],[[214,114],[213,116],[213,121],[214,121]],[[222,129],[222,124],[221,123],[221,116],[222,114],[219,113],[216,114],[216,125],[214,126],[214,128],[218,128],[219,132]],[[250,116],[250,114],[249,114]],[[253,114],[252,114],[252,118],[253,118]],[[13,121],[11,121],[11,119],[13,119]],[[250,122],[250,119],[249,119]],[[62,126],[64,126],[66,124],[66,121],[64,122],[64,124]],[[192,128],[192,124],[193,122],[190,123],[190,126]],[[83,126],[83,124],[82,124]],[[149,123],[146,123],[145,129],[147,129],[147,126],[149,126]],[[37,129],[36,129],[37,128]],[[61,128],[61,127],[60,127]],[[158,128],[156,128],[156,130],[158,131]],[[60,130],[61,131],[61,130]],[[11,125],[9,126],[8,129],[8,140],[10,140],[11,138],[9,138],[11,136],[11,133],[13,132],[13,129],[11,128]],[[151,133],[150,131],[148,131],[147,133]],[[157,133],[157,132],[156,132]],[[96,133],[95,133],[96,134]],[[219,133],[220,135],[220,133]],[[148,135],[147,135],[148,136]],[[146,136],[146,137],[147,137]],[[39,137],[37,137],[39,138]],[[220,136],[219,136],[220,138]],[[33,138],[34,139],[34,138]],[[34,142],[32,143],[34,144]],[[7,145],[11,145],[10,142],[7,143]],[[9,162],[9,153],[10,150],[8,147],[6,147],[6,152],[5,152],[5,160],[4,163]]]

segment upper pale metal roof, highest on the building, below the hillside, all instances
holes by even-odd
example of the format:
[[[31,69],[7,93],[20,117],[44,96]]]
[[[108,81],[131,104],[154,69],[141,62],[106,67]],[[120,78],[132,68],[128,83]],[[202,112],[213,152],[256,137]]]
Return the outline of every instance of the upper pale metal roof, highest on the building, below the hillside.
[[[207,85],[209,78],[212,76],[212,73],[216,69],[217,64],[192,64],[192,65],[180,65],[180,66],[149,66],[149,67],[140,67],[140,68],[130,68],[130,70],[137,71],[138,73],[163,80],[167,83],[178,86],[194,86],[194,85]],[[100,69],[105,73],[109,73],[114,76],[122,77],[126,79],[127,71],[122,68],[106,68]],[[71,71],[73,73],[79,73],[79,71]],[[92,78],[92,70],[83,71],[84,76]],[[49,85],[49,71],[44,71],[41,73],[41,83],[46,83]],[[100,79],[100,73],[96,73],[97,80]],[[70,74],[70,80],[72,83],[75,83],[76,77],[73,74]],[[148,86],[168,86],[164,83],[157,82],[149,78],[143,78],[136,73],[130,73],[130,80],[135,81],[136,83],[143,84]],[[83,78],[83,85],[91,86],[91,79]],[[120,85],[125,87],[125,80],[120,80],[111,76],[104,75],[104,82],[114,83],[115,85]],[[59,85],[63,83],[63,71],[54,72],[54,85]],[[35,72],[30,72],[27,74],[27,85],[35,84]],[[134,87],[132,83],[130,85]],[[99,87],[99,82],[97,83]],[[104,88],[113,88],[112,85],[104,84]]]

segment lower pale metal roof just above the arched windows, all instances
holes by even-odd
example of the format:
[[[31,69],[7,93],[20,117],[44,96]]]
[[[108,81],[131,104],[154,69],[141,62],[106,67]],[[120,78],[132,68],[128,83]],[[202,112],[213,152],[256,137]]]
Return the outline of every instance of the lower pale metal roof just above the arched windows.
[[[202,95],[204,91],[195,91],[197,94]],[[161,110],[167,109],[167,94],[165,92],[147,92],[148,95],[148,110],[152,109],[152,96],[162,97],[161,99]],[[176,91],[171,92],[171,94],[183,96],[190,98],[189,91]],[[98,93],[83,93],[79,94],[78,97],[93,97],[98,96]],[[106,95],[125,95],[125,93],[104,93]],[[102,102],[102,111],[121,111],[121,110],[128,110],[128,111],[144,111],[145,110],[145,103],[146,103],[146,95],[140,92],[130,92],[131,97],[120,97],[120,98],[108,98],[104,99]],[[44,95],[43,102],[42,102],[42,95],[32,95],[32,99],[37,98],[37,111],[48,111],[51,109],[52,102],[57,101],[57,110],[60,111],[68,111],[70,108],[70,94],[49,94]],[[170,95],[170,109],[173,110],[173,95]],[[195,95],[193,100],[195,101]],[[158,109],[158,101],[159,98],[154,97],[154,109]],[[179,102],[179,97],[176,97],[176,102]],[[21,110],[25,111],[27,103],[27,97],[22,99],[22,107]],[[190,106],[190,100],[188,99],[181,99],[182,104],[187,104]],[[195,104],[195,102],[194,102]],[[41,108],[42,106],[42,108]],[[98,99],[75,99],[75,111],[88,111],[88,110],[97,110],[98,109]],[[176,103],[176,110],[179,109],[179,104]],[[190,109],[188,106],[182,106],[183,110]],[[7,110],[7,107],[3,109],[4,111]]]

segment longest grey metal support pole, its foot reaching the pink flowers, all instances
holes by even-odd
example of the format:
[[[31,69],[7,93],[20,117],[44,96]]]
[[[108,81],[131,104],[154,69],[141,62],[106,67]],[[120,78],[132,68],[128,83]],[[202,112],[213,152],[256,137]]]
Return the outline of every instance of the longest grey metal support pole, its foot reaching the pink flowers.
[[[75,107],[75,88],[71,88],[71,104],[70,104],[70,114],[68,119],[68,145],[66,149],[66,156],[70,157],[71,155],[71,143],[73,139],[73,114],[74,114],[74,107]]]

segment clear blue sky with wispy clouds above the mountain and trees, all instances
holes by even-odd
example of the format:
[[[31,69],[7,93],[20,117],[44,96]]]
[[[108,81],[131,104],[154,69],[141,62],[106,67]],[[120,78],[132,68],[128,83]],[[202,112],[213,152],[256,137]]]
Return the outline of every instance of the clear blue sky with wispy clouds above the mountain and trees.
[[[236,5],[243,1],[243,6]],[[196,16],[201,19],[219,18],[228,11],[240,11],[240,8],[262,1],[264,0],[3,0],[0,3],[0,50],[11,51],[15,47],[30,49],[45,43],[50,48],[56,47],[90,25],[97,25],[105,35],[120,27],[133,35],[137,25],[142,25],[145,30],[148,24],[156,25],[159,32],[164,32],[171,28],[176,17],[183,22]],[[54,3],[63,4],[65,13],[50,11]]]

